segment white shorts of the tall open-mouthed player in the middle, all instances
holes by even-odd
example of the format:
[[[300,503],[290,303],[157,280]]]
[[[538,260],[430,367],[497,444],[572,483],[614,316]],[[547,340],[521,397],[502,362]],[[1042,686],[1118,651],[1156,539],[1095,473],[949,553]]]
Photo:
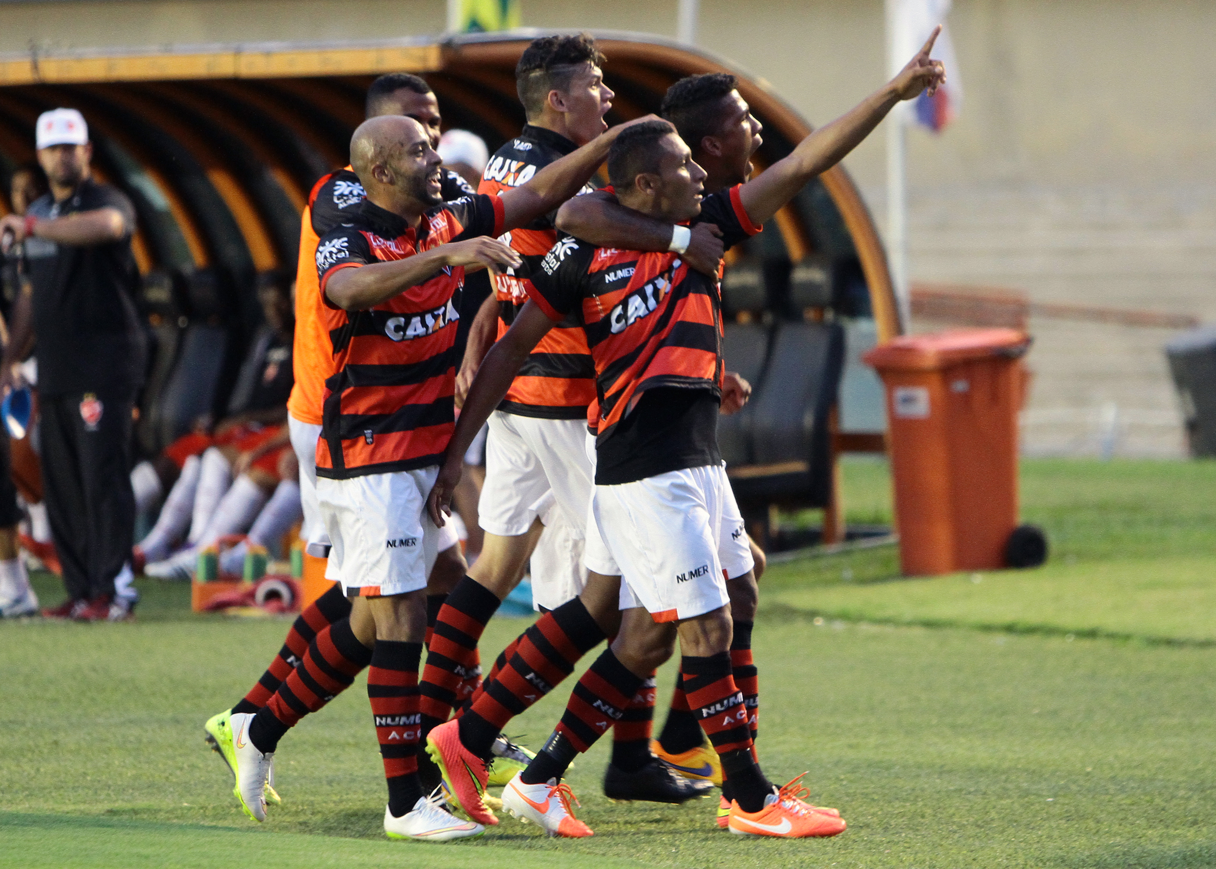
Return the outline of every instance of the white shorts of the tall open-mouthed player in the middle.
[[[535,506],[552,491],[565,524],[582,536],[591,498],[591,463],[581,419],[537,419],[495,411],[485,442],[485,485],[478,523],[490,534],[525,534]]]

